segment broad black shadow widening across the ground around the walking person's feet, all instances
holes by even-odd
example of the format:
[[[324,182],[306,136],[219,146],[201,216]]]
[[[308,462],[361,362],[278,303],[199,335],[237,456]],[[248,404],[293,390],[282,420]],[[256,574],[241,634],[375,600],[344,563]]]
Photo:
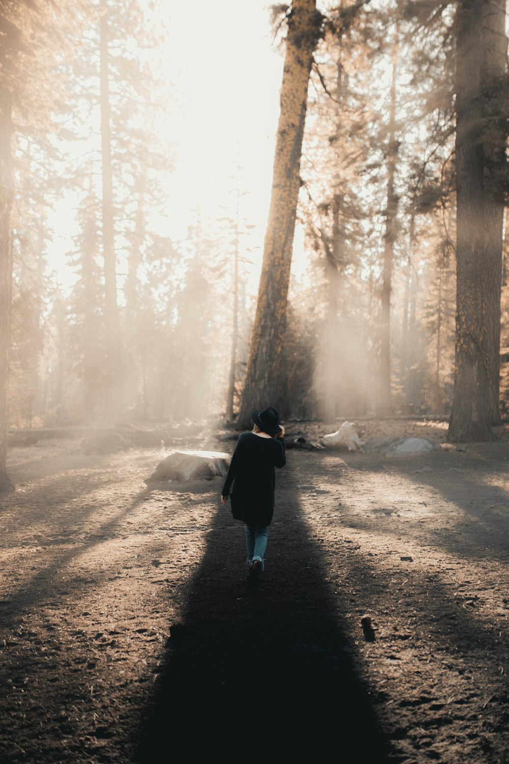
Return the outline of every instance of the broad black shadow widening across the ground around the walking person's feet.
[[[186,758],[388,761],[369,694],[346,652],[320,549],[281,480],[266,571],[244,586],[240,535],[217,513],[166,666],[137,735],[137,762]],[[229,514],[229,512],[228,512]],[[228,521],[227,521],[228,522]],[[395,761],[391,757],[391,761]]]

